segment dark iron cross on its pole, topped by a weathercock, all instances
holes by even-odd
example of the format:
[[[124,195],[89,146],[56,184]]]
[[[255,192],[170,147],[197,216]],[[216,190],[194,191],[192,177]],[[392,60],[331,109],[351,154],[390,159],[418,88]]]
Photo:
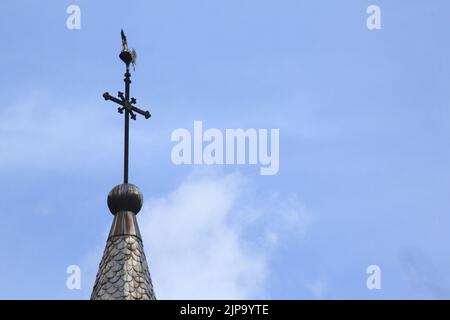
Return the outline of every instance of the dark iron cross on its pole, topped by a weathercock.
[[[130,131],[130,117],[133,120],[136,120],[136,113],[143,115],[145,119],[150,118],[150,112],[143,111],[135,106],[136,99],[130,99],[130,83],[131,83],[131,74],[130,74],[130,63],[134,65],[136,63],[136,51],[134,49],[128,49],[127,38],[123,30],[121,31],[122,35],[122,51],[120,52],[120,59],[126,65],[125,71],[125,95],[123,92],[119,91],[117,96],[120,98],[116,98],[111,96],[108,92],[103,94],[103,98],[105,100],[111,100],[117,103],[120,107],[117,109],[119,113],[124,113],[125,111],[125,137],[124,137],[124,159],[123,159],[123,183],[128,183],[128,150],[129,150],[129,131]]]

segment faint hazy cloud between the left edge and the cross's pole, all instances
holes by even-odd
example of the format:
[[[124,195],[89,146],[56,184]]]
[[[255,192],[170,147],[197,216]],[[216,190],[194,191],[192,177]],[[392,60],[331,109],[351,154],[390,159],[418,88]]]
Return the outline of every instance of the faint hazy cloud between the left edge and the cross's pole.
[[[82,102],[74,107],[44,94],[2,108],[0,167],[59,169],[105,161],[120,132],[98,109]]]

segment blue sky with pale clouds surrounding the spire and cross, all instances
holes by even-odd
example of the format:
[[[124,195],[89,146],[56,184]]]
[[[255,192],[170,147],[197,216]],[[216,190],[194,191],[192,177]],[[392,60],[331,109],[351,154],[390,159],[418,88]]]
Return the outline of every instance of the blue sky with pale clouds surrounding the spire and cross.
[[[152,112],[132,122],[130,182],[159,298],[450,298],[448,2],[0,9],[0,298],[89,298],[122,178],[123,121],[101,97],[123,87],[121,28]],[[170,134],[194,120],[279,128],[280,171],[173,165]]]

